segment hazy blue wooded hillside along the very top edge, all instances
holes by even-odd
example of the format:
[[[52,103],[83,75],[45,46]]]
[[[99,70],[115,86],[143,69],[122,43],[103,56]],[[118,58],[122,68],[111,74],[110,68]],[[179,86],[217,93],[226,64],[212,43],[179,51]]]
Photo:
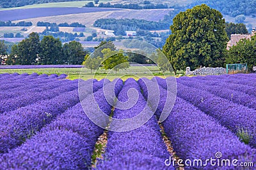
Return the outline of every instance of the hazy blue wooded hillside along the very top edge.
[[[58,2],[76,2],[80,3],[79,0],[10,0],[8,2],[0,1],[0,8],[13,8],[19,6],[27,6],[31,4],[44,4],[44,3],[58,3]],[[83,1],[83,3],[88,3],[93,1]],[[99,1],[99,3],[106,3],[110,2],[111,4],[139,4],[143,6],[144,0],[113,0],[113,1]],[[158,4],[160,3],[157,0],[150,0],[150,4]],[[237,15],[253,15],[255,17],[256,14],[256,0],[195,0],[195,1],[188,1],[188,0],[165,0],[161,1],[162,4],[167,4],[169,8],[177,8],[179,10],[185,10],[187,8],[191,8],[197,4],[207,4],[211,8],[221,11],[224,15],[230,15],[231,17],[236,17]]]

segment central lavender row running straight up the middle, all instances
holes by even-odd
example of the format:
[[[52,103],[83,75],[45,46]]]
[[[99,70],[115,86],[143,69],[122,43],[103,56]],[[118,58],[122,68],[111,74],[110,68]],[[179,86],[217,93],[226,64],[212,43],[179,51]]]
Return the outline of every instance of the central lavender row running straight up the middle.
[[[144,108],[150,112],[138,83],[133,79],[125,81],[118,99],[129,101],[127,92],[131,88],[139,94],[137,103],[127,110],[115,109],[114,118],[135,117]],[[152,117],[145,125],[133,131],[109,132],[104,160],[99,160],[95,169],[174,169],[164,165],[164,160],[168,158],[156,117]]]

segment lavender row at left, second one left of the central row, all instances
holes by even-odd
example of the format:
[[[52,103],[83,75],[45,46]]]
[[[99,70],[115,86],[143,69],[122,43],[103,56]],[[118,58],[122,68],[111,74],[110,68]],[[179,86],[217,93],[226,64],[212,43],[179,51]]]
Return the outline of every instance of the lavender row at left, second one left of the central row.
[[[92,80],[88,81],[88,85],[91,85],[90,81]],[[99,83],[102,84],[102,81],[95,82],[95,84]],[[26,138],[33,136],[45,124],[49,124],[53,118],[77,103],[79,103],[79,94],[75,89],[53,99],[39,101],[0,115],[0,120],[3,122],[0,127],[0,132],[3,132],[0,138],[0,152],[5,153],[19,146]]]

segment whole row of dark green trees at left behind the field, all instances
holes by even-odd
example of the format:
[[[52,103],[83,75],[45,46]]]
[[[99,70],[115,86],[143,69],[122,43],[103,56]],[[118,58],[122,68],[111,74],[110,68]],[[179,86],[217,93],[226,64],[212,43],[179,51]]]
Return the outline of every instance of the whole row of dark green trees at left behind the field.
[[[82,64],[84,55],[83,46],[77,41],[62,45],[60,39],[53,36],[44,36],[40,41],[35,32],[28,38],[12,46],[7,64]]]

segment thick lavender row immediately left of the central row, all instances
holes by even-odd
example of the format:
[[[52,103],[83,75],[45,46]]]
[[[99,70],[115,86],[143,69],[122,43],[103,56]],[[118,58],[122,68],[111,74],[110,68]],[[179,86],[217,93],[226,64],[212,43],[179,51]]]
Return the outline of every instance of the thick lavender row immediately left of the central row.
[[[103,93],[103,83],[104,80],[95,82],[94,85],[100,89],[95,90],[94,94],[85,94],[81,103],[68,107],[69,109],[63,114],[58,114],[51,124],[28,139],[24,145],[2,155],[1,167],[3,169],[88,169],[91,166],[91,155],[97,138],[104,130],[93,124],[84,113],[82,105],[95,114],[104,111],[110,115],[111,106],[105,99],[104,93],[108,94],[115,85],[117,95],[122,88],[122,80],[111,83],[106,80],[106,90]],[[77,96],[76,98],[78,99]]]

